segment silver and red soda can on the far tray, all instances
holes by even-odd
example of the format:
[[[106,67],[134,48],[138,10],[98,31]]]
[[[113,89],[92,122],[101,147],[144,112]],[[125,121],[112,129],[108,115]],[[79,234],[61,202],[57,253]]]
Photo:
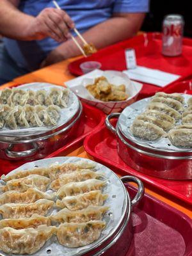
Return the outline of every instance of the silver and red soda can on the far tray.
[[[172,14],[163,20],[162,54],[165,56],[179,56],[182,54],[182,36],[184,19],[182,15]]]

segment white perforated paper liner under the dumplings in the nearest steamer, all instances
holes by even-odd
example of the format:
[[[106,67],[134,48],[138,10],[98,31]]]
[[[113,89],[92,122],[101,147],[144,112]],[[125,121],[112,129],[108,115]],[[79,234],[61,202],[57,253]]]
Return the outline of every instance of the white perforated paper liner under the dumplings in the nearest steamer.
[[[79,157],[53,157],[53,158],[47,158],[42,159],[38,161],[33,161],[31,163],[26,163],[19,168],[13,170],[9,174],[16,173],[18,171],[22,170],[29,170],[35,167],[45,167],[49,166],[50,164],[58,163],[76,163],[78,161],[87,161],[88,163],[95,163],[89,159],[83,159]],[[56,236],[53,236],[47,243],[42,247],[42,249],[36,253],[34,253],[34,256],[46,256],[46,255],[56,255],[56,256],[74,256],[78,255],[79,253],[85,253],[86,250],[89,248],[93,248],[93,246],[97,246],[101,241],[106,239],[106,237],[109,234],[112,234],[116,230],[116,228],[120,225],[121,218],[124,215],[125,212],[125,189],[124,184],[118,179],[116,174],[109,170],[106,166],[95,163],[95,172],[102,173],[106,176],[106,179],[108,180],[107,186],[103,189],[104,194],[108,194],[109,198],[106,200],[104,205],[109,205],[110,209],[106,214],[104,214],[103,220],[106,221],[106,228],[102,230],[102,234],[99,237],[97,241],[95,241],[92,244],[89,244],[87,246],[79,247],[79,248],[67,248],[65,246],[62,246],[58,243]],[[2,180],[1,180],[1,182]],[[50,193],[50,190],[47,191]],[[59,211],[59,210],[57,210]],[[54,214],[56,212],[56,209],[54,209],[51,214]],[[51,253],[47,253],[47,250],[51,250]],[[0,255],[1,255],[0,251]],[[2,253],[2,255],[6,255],[6,253]],[[14,256],[14,255],[12,255]]]

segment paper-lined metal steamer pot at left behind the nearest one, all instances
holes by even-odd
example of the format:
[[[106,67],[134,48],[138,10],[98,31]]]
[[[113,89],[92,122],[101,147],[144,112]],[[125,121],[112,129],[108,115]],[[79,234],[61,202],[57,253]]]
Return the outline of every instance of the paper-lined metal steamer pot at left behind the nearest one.
[[[72,92],[70,92],[70,95],[72,95],[74,102],[68,108],[68,116],[63,120],[64,110],[56,127],[51,129],[46,127],[37,127],[29,130],[20,129],[19,132],[18,130],[14,132],[7,129],[0,132],[0,158],[9,161],[42,159],[58,148],[63,147],[76,133],[77,128],[81,132],[81,127],[78,127],[78,125],[83,108],[76,95]],[[75,109],[72,109],[74,106]]]

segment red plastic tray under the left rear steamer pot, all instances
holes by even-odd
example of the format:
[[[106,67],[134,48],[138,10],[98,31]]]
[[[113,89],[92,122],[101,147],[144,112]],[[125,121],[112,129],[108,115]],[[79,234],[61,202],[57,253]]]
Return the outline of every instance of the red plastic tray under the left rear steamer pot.
[[[62,156],[63,152],[65,152],[66,156],[69,154],[69,152],[72,152],[76,148],[80,147],[83,144],[84,138],[94,129],[100,127],[104,123],[105,118],[106,116],[102,111],[83,103],[83,115],[81,116],[81,121],[79,124],[80,129],[77,130],[76,134],[70,138],[70,141],[65,146],[59,148],[47,157],[58,156],[59,152],[62,152]],[[26,161],[7,161],[0,159],[0,174],[6,174],[24,163],[26,163]]]

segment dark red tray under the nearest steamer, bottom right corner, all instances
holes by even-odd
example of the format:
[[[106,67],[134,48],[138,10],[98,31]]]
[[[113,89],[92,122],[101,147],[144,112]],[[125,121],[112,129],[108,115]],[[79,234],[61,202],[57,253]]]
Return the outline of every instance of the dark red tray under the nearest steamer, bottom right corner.
[[[133,198],[135,189],[127,189]],[[134,239],[126,256],[192,255],[192,221],[182,212],[145,194],[132,221]]]

